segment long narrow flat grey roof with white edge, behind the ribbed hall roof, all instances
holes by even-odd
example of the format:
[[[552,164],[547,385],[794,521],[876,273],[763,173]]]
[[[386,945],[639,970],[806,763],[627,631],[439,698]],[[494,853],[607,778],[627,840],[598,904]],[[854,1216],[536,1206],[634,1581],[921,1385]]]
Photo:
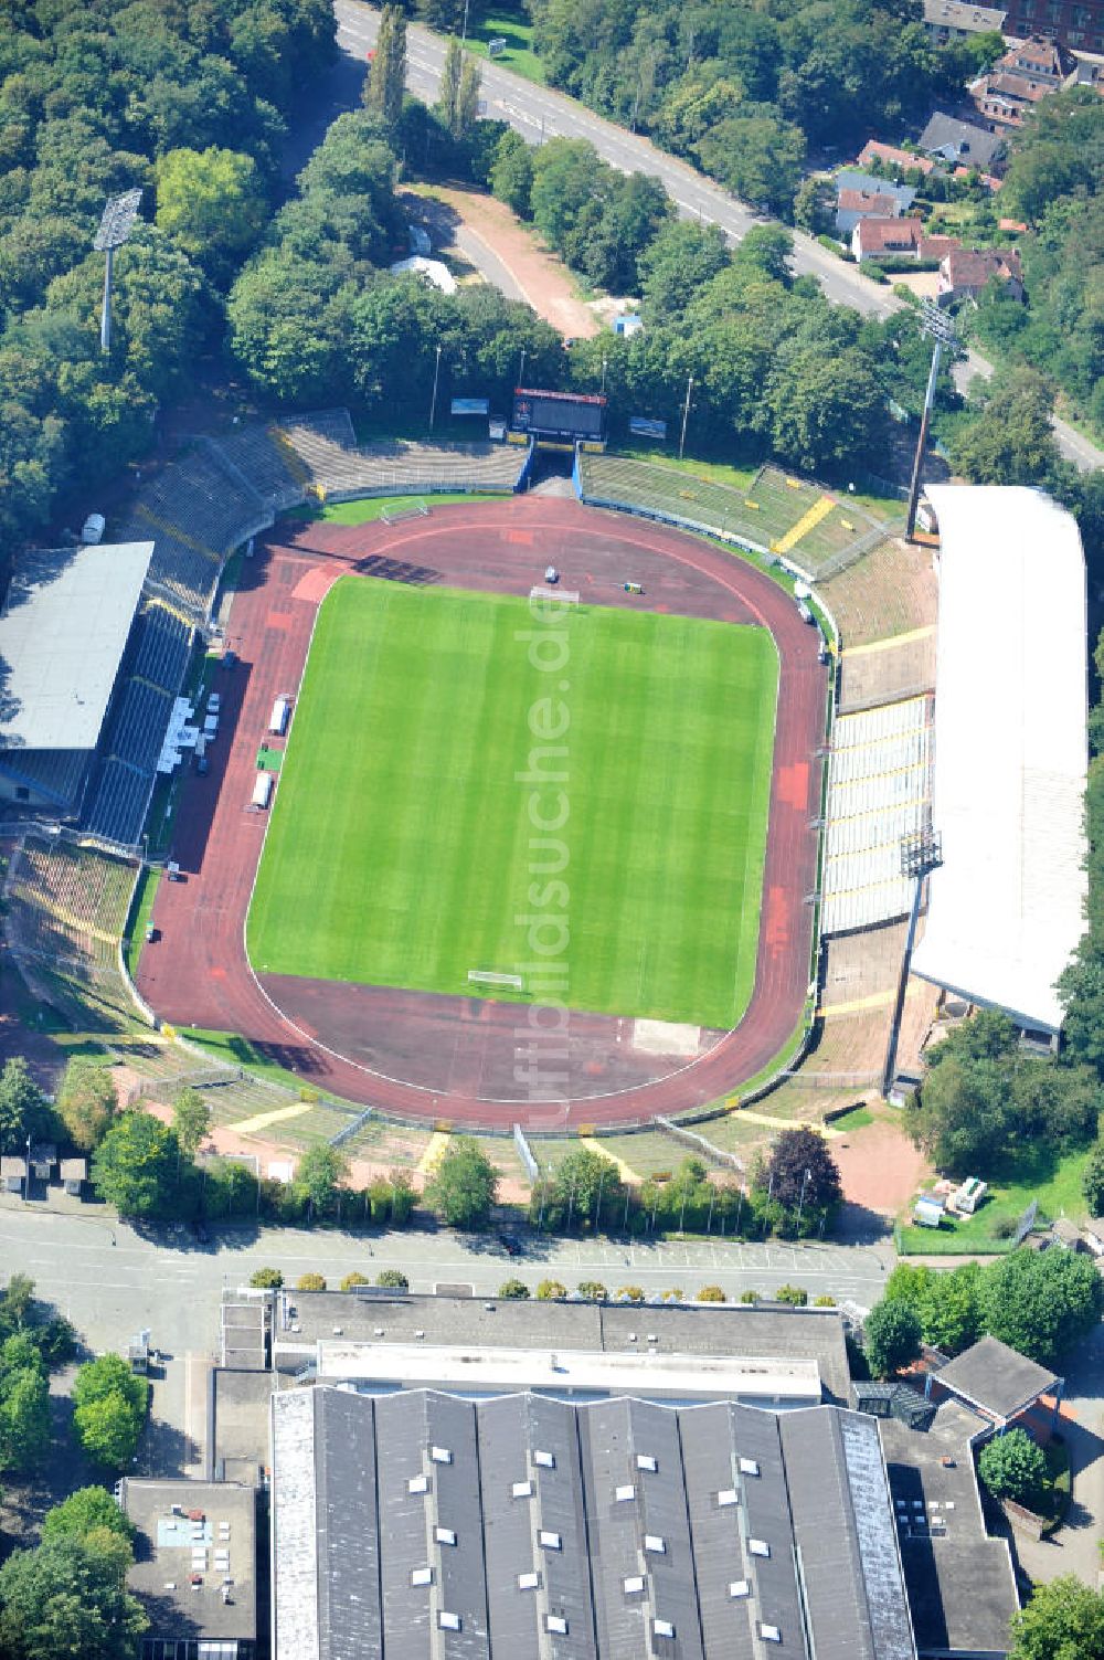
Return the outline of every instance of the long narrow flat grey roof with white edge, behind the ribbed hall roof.
[[[651,1338],[656,1341],[651,1343]],[[315,1356],[319,1345],[342,1350],[370,1345],[370,1361],[350,1361],[360,1366],[357,1376],[387,1376],[387,1351],[393,1346],[403,1351],[435,1350],[435,1365],[445,1365],[442,1351],[448,1350],[476,1355],[481,1365],[490,1365],[488,1356],[500,1350],[536,1350],[545,1363],[554,1353],[559,1365],[568,1366],[569,1356],[578,1351],[646,1363],[651,1348],[664,1363],[669,1356],[691,1358],[694,1365],[697,1360],[721,1360],[732,1373],[747,1374],[749,1393],[754,1378],[749,1368],[764,1366],[785,1373],[794,1365],[802,1370],[815,1366],[830,1401],[845,1404],[850,1389],[843,1320],[837,1308],[543,1303],[410,1291],[385,1296],[279,1291],[272,1365],[281,1371],[297,1371],[304,1358]],[[646,1365],[639,1366],[641,1379],[646,1370]],[[393,1371],[400,1374],[402,1363]],[[468,1363],[463,1371],[470,1374]],[[765,1376],[764,1373],[764,1379]],[[790,1376],[797,1378],[799,1371]],[[526,1388],[530,1381],[523,1376],[510,1386]],[[629,1384],[621,1381],[618,1388],[626,1389]],[[712,1389],[712,1383],[707,1388]],[[697,1393],[702,1393],[701,1386]]]

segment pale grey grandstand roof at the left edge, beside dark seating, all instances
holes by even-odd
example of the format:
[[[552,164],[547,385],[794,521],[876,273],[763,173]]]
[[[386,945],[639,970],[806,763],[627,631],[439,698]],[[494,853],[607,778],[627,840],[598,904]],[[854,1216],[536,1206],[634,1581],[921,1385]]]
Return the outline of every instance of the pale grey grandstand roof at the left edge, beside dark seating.
[[[151,541],[28,553],[0,616],[0,749],[96,747]]]

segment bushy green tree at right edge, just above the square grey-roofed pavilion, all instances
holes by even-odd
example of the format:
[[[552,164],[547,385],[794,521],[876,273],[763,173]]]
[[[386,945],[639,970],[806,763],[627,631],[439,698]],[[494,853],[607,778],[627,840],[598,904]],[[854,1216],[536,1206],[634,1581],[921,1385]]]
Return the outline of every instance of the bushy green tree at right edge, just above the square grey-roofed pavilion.
[[[1101,1308],[1104,1280],[1076,1252],[1013,1252],[981,1277],[984,1330],[1043,1366],[1091,1331]]]

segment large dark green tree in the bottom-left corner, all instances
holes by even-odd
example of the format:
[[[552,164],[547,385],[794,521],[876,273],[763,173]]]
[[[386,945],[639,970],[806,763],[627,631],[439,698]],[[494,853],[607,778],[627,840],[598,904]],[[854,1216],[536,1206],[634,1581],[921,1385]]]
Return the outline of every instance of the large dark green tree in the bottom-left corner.
[[[0,1650],[10,1660],[129,1660],[149,1618],[126,1594],[123,1550],[105,1549],[100,1532],[10,1557],[0,1569]]]

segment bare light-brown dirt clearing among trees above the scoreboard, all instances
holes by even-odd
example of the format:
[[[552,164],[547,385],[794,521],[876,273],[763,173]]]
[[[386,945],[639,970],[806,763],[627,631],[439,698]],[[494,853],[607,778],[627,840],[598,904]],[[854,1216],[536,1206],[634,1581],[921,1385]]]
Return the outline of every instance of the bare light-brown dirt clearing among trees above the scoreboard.
[[[526,300],[563,335],[589,339],[599,332],[601,322],[574,292],[571,272],[540,246],[505,203],[478,191],[442,186],[418,194],[435,251],[473,266],[508,299]]]

